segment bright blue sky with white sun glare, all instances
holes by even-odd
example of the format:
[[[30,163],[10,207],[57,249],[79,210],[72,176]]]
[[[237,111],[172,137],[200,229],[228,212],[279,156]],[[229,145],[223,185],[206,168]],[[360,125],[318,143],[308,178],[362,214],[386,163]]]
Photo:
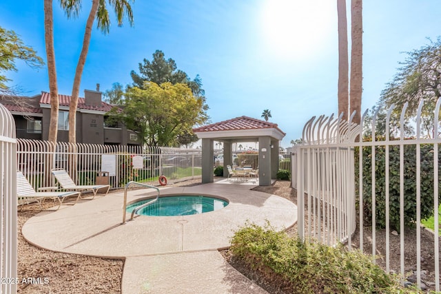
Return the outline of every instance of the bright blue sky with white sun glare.
[[[191,78],[201,76],[212,123],[269,109],[289,147],[311,116],[337,112],[336,0],[136,0],[132,8],[134,27],[117,27],[111,14],[110,34],[92,32],[80,96],[96,83],[101,91],[132,83],[130,71],[162,50]],[[79,18],[67,19],[54,1],[60,94],[72,92],[89,9],[83,1]],[[376,104],[402,52],[441,34],[440,11],[439,0],[364,1],[362,109]],[[0,1],[0,25],[45,59],[43,1]],[[49,90],[45,67],[17,67],[7,73],[10,85],[25,95]]]

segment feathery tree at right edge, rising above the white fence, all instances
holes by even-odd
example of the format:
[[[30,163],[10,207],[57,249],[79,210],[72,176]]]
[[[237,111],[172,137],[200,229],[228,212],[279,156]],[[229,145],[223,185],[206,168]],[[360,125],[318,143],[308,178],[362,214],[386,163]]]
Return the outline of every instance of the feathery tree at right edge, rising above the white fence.
[[[441,97],[441,38],[429,39],[429,44],[407,53],[393,80],[387,83],[380,96],[380,106],[395,105],[394,112],[400,114],[404,103],[409,103],[406,118],[416,115],[420,101],[426,101],[422,109],[422,127],[433,136],[433,110]]]

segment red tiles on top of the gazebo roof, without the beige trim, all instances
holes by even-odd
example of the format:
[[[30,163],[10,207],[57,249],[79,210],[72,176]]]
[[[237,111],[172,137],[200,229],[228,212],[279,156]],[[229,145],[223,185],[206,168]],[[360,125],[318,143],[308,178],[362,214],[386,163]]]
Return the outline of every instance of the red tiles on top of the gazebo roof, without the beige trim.
[[[229,120],[221,121],[220,123],[213,123],[212,125],[205,125],[193,129],[193,132],[216,132],[216,131],[236,131],[247,129],[278,129],[279,132],[285,134],[278,128],[276,123],[269,123],[265,120],[258,120],[248,116],[240,116]]]

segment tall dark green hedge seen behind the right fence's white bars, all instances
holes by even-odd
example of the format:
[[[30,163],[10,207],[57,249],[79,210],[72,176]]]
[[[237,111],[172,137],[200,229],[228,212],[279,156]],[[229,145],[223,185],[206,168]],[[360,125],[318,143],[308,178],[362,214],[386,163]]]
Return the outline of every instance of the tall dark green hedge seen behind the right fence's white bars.
[[[376,147],[376,227],[386,227],[385,147]],[[363,148],[363,216],[371,224],[372,161],[371,147]],[[356,192],[358,193],[358,148],[356,148]],[[433,215],[433,145],[421,145],[421,219]],[[441,156],[438,155],[438,160]],[[440,165],[441,167],[441,165]],[[440,169],[441,170],[441,169]],[[441,192],[441,191],[440,191]],[[438,194],[438,199],[441,193]],[[359,199],[358,197],[356,198]],[[390,227],[400,229],[400,147],[389,147]],[[416,145],[404,146],[404,226],[416,225]]]

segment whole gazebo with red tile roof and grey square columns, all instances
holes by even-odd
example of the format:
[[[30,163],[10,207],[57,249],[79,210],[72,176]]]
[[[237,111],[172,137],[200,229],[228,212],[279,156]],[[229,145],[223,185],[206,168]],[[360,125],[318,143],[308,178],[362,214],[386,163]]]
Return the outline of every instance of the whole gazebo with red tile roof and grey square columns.
[[[285,137],[276,123],[240,116],[193,129],[202,140],[202,182],[213,182],[214,141],[223,143],[223,175],[228,176],[227,165],[232,165],[232,144],[258,142],[259,185],[271,185],[278,171],[279,141]]]

